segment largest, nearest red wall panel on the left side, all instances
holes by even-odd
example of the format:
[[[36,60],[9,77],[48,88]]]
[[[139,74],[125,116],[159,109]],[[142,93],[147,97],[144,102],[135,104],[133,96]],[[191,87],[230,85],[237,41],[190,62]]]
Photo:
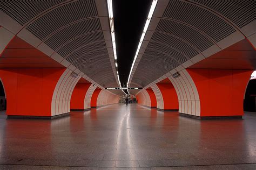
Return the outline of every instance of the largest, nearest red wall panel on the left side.
[[[0,69],[5,89],[6,115],[51,116],[53,91],[65,69]]]

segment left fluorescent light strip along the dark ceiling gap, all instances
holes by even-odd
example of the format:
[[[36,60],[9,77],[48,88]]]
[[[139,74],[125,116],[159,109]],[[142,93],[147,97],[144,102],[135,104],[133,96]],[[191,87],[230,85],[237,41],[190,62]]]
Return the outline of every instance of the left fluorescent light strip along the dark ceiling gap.
[[[112,46],[113,46],[113,54],[114,54],[114,65],[116,66],[117,70],[117,79],[119,82],[119,86],[121,86],[118,74],[118,67],[117,67],[117,51],[116,51],[116,38],[114,37],[114,18],[113,18],[113,8],[112,8],[112,0],[107,0],[107,9],[109,11],[109,23],[110,23],[110,30],[111,30],[111,38],[112,38]]]

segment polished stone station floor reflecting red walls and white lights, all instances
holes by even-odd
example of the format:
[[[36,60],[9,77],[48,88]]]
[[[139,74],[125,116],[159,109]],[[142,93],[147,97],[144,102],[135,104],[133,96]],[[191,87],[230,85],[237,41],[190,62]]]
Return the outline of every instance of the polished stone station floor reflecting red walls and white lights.
[[[256,169],[256,114],[181,117],[138,104],[53,120],[0,115],[0,169]]]

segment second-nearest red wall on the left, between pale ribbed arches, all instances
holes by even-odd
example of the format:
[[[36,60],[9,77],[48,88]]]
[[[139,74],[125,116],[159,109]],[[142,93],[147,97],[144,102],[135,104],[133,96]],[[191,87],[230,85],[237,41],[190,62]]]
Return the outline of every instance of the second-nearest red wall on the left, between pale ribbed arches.
[[[84,109],[84,98],[90,86],[91,83],[76,84],[71,96],[70,109]]]

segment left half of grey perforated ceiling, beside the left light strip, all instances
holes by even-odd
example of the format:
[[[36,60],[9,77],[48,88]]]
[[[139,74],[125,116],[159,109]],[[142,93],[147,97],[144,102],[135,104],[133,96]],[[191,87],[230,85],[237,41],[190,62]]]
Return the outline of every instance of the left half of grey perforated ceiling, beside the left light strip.
[[[102,87],[118,87],[105,1],[4,1],[3,12],[66,67],[75,66]]]

